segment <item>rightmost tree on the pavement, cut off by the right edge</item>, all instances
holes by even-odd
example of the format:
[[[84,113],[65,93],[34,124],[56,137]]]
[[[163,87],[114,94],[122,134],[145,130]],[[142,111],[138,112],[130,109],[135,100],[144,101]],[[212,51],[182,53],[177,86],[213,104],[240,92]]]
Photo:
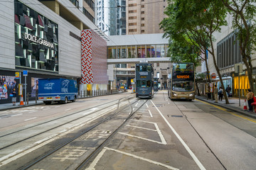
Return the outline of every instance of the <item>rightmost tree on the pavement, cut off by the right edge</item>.
[[[255,50],[256,45],[256,26],[255,15],[256,6],[255,0],[221,0],[223,4],[228,8],[230,14],[233,16],[233,28],[238,30],[240,52],[242,55],[242,62],[245,63],[245,67],[248,72],[248,79],[250,88],[255,92],[252,78],[252,51]]]

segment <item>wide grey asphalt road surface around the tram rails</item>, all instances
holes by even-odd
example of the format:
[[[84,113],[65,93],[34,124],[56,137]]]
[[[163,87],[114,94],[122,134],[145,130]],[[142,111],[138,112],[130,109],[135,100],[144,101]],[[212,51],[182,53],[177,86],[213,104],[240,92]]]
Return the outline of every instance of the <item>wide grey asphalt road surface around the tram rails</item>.
[[[96,120],[104,112],[114,110],[117,106],[113,103],[124,96],[134,94],[86,98],[66,105],[42,105],[0,112],[0,148],[19,138],[42,132],[30,140],[0,149],[0,169],[16,169],[17,162],[23,164],[26,159],[33,159],[36,154],[43,152],[46,145],[53,147],[57,145],[56,141],[66,140],[71,134],[94,123],[92,119]],[[157,92],[151,100],[138,100],[132,108],[139,110],[82,169],[251,170],[256,167],[256,120],[252,118],[202,101],[171,101],[167,91]],[[62,169],[60,165],[67,165],[65,169],[74,169],[90,154],[90,149],[110,136],[131,110],[126,108],[122,115],[100,125],[90,135],[70,143],[68,149],[60,149],[30,169]],[[89,113],[92,113],[90,117]],[[75,120],[81,115],[85,115],[85,118]],[[58,128],[54,128],[58,125]],[[35,128],[29,129],[31,126]],[[23,131],[24,128],[28,130]],[[45,132],[51,128],[53,130]],[[15,133],[17,130],[21,131]],[[14,134],[9,135],[11,133]],[[74,150],[78,152],[75,155]]]

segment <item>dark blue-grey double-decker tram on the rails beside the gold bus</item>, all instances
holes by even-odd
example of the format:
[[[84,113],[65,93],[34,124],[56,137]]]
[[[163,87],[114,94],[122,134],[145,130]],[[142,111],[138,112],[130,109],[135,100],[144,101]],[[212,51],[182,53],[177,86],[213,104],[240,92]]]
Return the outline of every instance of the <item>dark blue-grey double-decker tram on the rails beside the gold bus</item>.
[[[152,64],[141,62],[136,64],[136,97],[152,98],[154,96],[154,70]]]

